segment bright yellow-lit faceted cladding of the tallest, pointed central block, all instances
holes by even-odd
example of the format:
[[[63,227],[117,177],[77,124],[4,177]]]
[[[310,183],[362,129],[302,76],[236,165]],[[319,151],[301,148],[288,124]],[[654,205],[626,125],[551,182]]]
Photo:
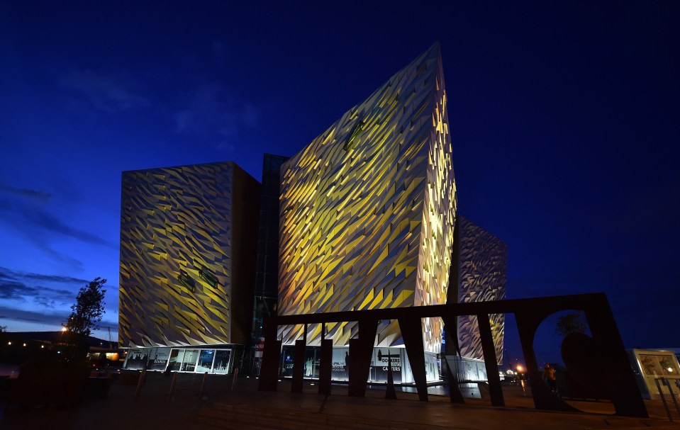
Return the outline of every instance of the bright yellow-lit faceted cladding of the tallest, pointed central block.
[[[279,315],[446,302],[456,209],[446,92],[433,45],[282,166]],[[354,323],[328,324],[346,345]],[[441,324],[423,319],[425,350]],[[282,327],[291,344],[303,327]],[[321,327],[308,327],[308,344]],[[396,322],[377,344],[401,344]]]

